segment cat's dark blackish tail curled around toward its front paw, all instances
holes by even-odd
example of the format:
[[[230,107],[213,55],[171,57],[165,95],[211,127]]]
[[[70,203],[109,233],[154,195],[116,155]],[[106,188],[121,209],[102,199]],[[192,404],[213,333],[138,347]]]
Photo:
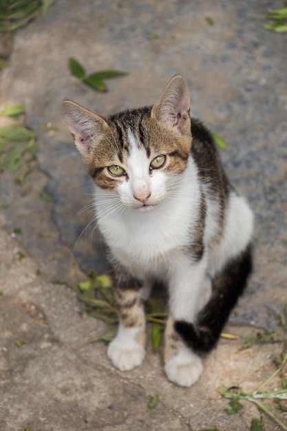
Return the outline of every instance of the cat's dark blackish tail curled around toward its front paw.
[[[175,322],[176,331],[193,352],[204,355],[215,347],[231,310],[244,291],[251,271],[252,255],[251,245],[249,245],[215,276],[213,294],[202,311],[198,313],[195,324]]]

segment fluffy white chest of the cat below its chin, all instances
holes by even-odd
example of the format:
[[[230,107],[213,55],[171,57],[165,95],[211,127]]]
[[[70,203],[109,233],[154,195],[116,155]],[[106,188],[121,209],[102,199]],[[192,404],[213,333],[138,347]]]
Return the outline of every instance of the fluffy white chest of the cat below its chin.
[[[175,251],[189,246],[196,212],[190,202],[173,202],[147,213],[124,211],[102,220],[99,227],[120,262],[136,272],[154,272],[164,269]]]

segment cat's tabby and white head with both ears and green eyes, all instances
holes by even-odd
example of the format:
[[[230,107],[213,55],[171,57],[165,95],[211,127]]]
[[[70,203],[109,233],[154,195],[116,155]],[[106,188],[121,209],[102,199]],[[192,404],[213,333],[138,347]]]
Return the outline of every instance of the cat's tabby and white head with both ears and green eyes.
[[[127,207],[147,211],[169,195],[191,150],[189,90],[176,75],[152,107],[103,118],[71,101],[63,110],[96,185]]]

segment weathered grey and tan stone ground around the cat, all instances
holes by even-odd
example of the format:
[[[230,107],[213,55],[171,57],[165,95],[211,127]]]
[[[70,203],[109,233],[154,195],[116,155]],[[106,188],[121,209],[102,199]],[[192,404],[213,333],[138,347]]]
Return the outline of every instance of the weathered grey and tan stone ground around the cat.
[[[39,14],[14,36],[0,75],[0,111],[24,103],[29,127],[57,129],[39,133],[23,186],[0,173],[0,430],[246,431],[259,419],[251,403],[226,414],[228,401],[216,389],[252,392],[275,371],[273,359],[284,348],[277,342],[240,350],[247,335],[278,330],[287,304],[287,34],[262,28],[266,10],[281,6],[56,0],[46,17]],[[88,73],[129,75],[107,81],[105,94],[94,92],[71,76],[70,57]],[[92,229],[81,235],[92,220],[81,211],[92,182],[61,101],[98,114],[152,104],[176,73],[189,84],[193,115],[226,140],[224,166],[256,215],[255,271],[225,330],[238,339],[221,339],[191,388],[167,381],[162,352],[150,342],[144,364],[131,372],[111,366],[102,342],[76,350],[106,327],[81,313],[83,304],[67,287],[107,267],[100,235],[91,236]],[[39,197],[43,191],[50,202]],[[267,389],[279,383],[275,378]],[[154,395],[160,402],[150,410]],[[287,426],[286,412],[265,402]],[[281,429],[264,417],[264,430]]]

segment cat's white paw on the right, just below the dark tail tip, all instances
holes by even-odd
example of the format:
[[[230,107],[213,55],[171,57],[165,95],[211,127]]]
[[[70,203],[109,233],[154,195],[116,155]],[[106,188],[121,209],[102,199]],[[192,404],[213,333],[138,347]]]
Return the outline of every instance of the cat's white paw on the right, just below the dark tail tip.
[[[202,361],[200,357],[187,350],[184,346],[164,366],[167,377],[179,386],[191,386],[202,373]]]

